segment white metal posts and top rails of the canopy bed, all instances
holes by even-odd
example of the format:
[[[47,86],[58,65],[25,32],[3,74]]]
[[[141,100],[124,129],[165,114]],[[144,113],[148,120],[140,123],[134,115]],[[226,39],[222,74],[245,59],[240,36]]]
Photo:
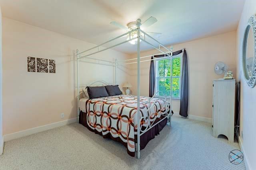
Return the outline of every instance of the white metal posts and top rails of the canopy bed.
[[[102,65],[106,65],[106,66],[113,66],[114,67],[114,83],[117,84],[117,68],[118,65],[124,65],[124,64],[133,64],[133,63],[137,63],[137,113],[140,113],[140,63],[142,62],[146,62],[146,61],[152,61],[152,60],[156,60],[156,59],[150,59],[150,60],[140,60],[149,56],[144,56],[144,57],[140,57],[140,40],[147,43],[148,45],[150,45],[151,47],[153,47],[154,49],[160,51],[162,55],[165,55],[163,58],[166,59],[170,59],[170,61],[172,61],[172,49],[168,49],[167,47],[165,47],[164,45],[162,45],[159,41],[157,41],[156,39],[154,39],[153,37],[151,37],[150,35],[148,35],[146,32],[142,31],[140,29],[140,23],[137,23],[137,28],[132,30],[132,31],[128,31],[127,33],[124,33],[116,38],[110,39],[109,41],[106,41],[100,45],[97,45],[95,47],[92,47],[90,49],[87,49],[85,51],[79,52],[78,49],[76,50],[76,64],[77,64],[77,74],[76,74],[76,78],[77,78],[77,107],[78,107],[78,122],[79,122],[79,114],[80,114],[80,108],[79,108],[79,100],[80,100],[80,87],[84,86],[84,84],[80,84],[80,80],[79,80],[79,67],[80,67],[80,62],[85,62],[85,63],[93,63],[93,64],[102,64]],[[134,33],[136,33],[136,36],[134,37]],[[131,36],[131,34],[133,36]],[[116,41],[117,39],[120,39],[124,36],[127,36],[128,38],[126,39],[126,41],[122,41],[121,43],[115,43],[114,45],[111,45],[110,47],[104,47],[104,45]],[[153,40],[154,42],[156,42],[158,44],[158,47],[156,47],[155,45],[152,45],[150,42],[147,41],[147,39],[151,39],[151,41]],[[122,45],[124,43],[127,43],[129,41],[132,40],[136,40],[137,41],[137,58],[136,59],[128,59],[128,60],[124,60],[124,61],[117,61],[117,59],[113,60],[113,61],[107,61],[105,59],[96,59],[93,57],[89,57],[91,55],[95,55],[97,53],[106,51],[108,49],[112,49],[118,45]],[[167,51],[164,51],[162,49],[165,49]],[[96,50],[96,51],[95,51]],[[156,54],[156,55],[160,55],[160,54]],[[131,62],[131,63],[126,63],[127,61],[132,61],[132,60],[136,60],[136,62]],[[155,95],[154,95],[155,96]],[[169,95],[168,95],[169,96]],[[154,98],[154,97],[153,97]],[[170,113],[167,113],[167,96],[165,96],[165,103],[164,103],[164,107],[165,107],[165,111],[164,113],[162,113],[162,115],[164,115],[164,118],[161,119],[167,119],[169,118],[169,123],[171,125],[171,111],[172,111],[172,66],[171,66],[171,75],[170,75]],[[161,100],[161,99],[160,99]],[[152,106],[152,104],[150,103],[152,101],[152,98],[149,98],[148,102],[149,102],[149,106]],[[150,107],[151,108],[151,107]],[[150,110],[148,110],[149,112],[151,112]],[[158,123],[160,123],[161,121],[158,122],[153,122],[154,125],[150,124],[148,125],[148,127],[146,128],[146,130],[142,130],[140,127],[140,120],[142,120],[142,118],[140,118],[140,114],[137,114],[137,122],[134,122],[134,125],[137,125],[137,143],[135,144],[136,147],[136,152],[137,152],[137,158],[140,158],[140,136],[142,134],[144,134],[146,131],[148,131],[149,129],[151,129],[151,127],[157,125]],[[149,120],[150,121],[150,120]],[[142,131],[141,131],[142,130]]]

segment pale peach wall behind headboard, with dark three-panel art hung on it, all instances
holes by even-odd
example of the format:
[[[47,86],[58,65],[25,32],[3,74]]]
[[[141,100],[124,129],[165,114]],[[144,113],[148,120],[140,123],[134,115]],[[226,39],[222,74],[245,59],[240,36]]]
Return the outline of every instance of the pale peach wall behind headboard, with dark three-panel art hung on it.
[[[77,117],[76,59],[74,52],[95,45],[3,18],[3,134]],[[56,74],[27,72],[27,57],[56,59]],[[126,59],[108,50],[94,56],[109,61]],[[127,70],[118,69],[118,84]],[[80,64],[80,83],[105,80],[112,83],[114,68]],[[60,118],[64,113],[64,119]]]

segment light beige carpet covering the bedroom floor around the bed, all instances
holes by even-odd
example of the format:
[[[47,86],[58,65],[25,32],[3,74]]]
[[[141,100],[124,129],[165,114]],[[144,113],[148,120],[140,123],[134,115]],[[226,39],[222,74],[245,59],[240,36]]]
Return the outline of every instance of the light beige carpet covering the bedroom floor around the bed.
[[[73,123],[8,141],[0,170],[243,170],[228,154],[238,143],[212,137],[210,123],[173,116],[160,135],[133,158],[126,148]]]

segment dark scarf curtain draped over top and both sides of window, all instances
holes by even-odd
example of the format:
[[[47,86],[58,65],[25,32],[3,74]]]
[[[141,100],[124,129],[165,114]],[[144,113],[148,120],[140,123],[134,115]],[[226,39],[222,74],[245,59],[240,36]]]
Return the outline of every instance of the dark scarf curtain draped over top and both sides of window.
[[[182,53],[182,50],[175,51],[172,53],[172,56],[178,55]],[[164,57],[164,55],[155,55],[156,58]],[[153,57],[151,57],[153,59]],[[153,66],[153,69],[151,69]],[[152,72],[153,70],[153,72]],[[152,74],[154,74],[154,80],[152,80]],[[154,95],[154,88],[155,87],[155,71],[154,71],[154,61],[150,63],[150,73],[149,73],[149,96],[152,97]],[[186,50],[183,51],[182,56],[182,75],[181,75],[181,89],[180,89],[180,115],[183,117],[188,117],[188,58]]]

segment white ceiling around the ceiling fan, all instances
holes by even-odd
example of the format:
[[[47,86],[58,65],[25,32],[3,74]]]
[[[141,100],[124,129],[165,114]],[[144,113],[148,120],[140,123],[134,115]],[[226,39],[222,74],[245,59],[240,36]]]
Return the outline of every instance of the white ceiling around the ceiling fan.
[[[111,21],[126,25],[154,16],[158,22],[142,30],[162,33],[155,38],[171,45],[236,30],[244,0],[0,0],[0,4],[4,17],[96,45],[125,33]],[[136,45],[115,49],[132,54]],[[142,44],[141,49],[152,47]]]

